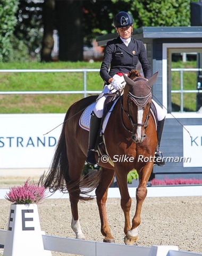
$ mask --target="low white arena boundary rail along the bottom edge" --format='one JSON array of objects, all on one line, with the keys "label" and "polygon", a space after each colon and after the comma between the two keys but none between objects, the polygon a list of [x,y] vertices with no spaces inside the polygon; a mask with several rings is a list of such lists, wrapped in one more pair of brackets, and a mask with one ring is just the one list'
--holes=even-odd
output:
[{"label": "low white arena boundary rail along the bottom edge", "polygon": [[[0,230],[0,244],[5,244],[5,230]],[[85,256],[199,256],[200,253],[179,251],[178,246],[159,245],[152,247],[108,244],[73,238],[42,235],[44,249],[54,252]],[[20,255],[19,255],[20,256]],[[44,256],[44,255],[40,255]]]}]

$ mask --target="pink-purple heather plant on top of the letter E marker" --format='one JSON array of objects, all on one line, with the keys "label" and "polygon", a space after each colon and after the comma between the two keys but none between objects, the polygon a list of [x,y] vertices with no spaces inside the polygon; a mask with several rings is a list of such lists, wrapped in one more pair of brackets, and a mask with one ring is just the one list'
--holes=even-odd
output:
[{"label": "pink-purple heather plant on top of the letter E marker", "polygon": [[39,184],[29,183],[29,179],[24,185],[10,188],[5,198],[14,204],[35,204],[45,198],[45,188]]}]

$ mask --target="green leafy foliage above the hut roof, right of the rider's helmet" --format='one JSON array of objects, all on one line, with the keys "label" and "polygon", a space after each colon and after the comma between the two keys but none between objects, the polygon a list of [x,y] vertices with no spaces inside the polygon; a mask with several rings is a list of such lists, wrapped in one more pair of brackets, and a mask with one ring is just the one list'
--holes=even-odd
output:
[{"label": "green leafy foliage above the hut roof, right of the rider's helmet", "polygon": [[[113,0],[114,4],[127,3],[134,19],[134,28],[190,26],[190,3],[197,0]],[[122,9],[124,10],[124,9]]]}]

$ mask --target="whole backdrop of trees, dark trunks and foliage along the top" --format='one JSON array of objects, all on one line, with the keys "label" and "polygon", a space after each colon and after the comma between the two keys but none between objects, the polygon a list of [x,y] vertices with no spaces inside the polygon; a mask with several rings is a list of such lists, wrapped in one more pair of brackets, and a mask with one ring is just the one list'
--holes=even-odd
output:
[{"label": "whole backdrop of trees, dark trunks and foliage along the top", "polygon": [[[134,28],[190,26],[190,3],[197,1],[1,0],[0,61],[9,60],[11,45],[16,45],[18,42],[21,42],[19,45],[22,49],[26,49],[23,58],[27,49],[30,55],[38,54],[42,48],[41,59],[50,61],[53,29],[58,30],[59,36],[62,38],[61,41],[63,41],[62,45],[59,42],[61,60],[81,60],[83,43],[90,46],[92,39],[96,36],[115,33],[113,18],[116,13],[126,11],[132,14]],[[49,12],[49,18],[46,17],[46,22],[43,19],[45,17],[43,4],[45,2],[51,6],[53,13],[50,15]],[[11,37],[13,31],[14,37]],[[11,59],[15,59],[14,57],[17,55],[13,50],[13,58]]]}]

